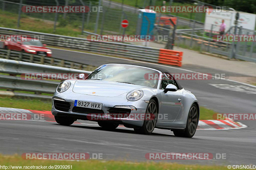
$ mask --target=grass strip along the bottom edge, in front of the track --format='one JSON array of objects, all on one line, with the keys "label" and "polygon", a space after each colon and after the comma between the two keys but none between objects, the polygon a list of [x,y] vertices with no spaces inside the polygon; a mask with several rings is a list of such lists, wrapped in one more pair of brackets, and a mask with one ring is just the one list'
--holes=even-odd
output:
[{"label": "grass strip along the bottom edge, in front of the track", "polygon": [[0,155],[0,165],[4,166],[22,166],[21,168],[16,167],[13,169],[25,169],[24,166],[55,166],[55,165],[69,165],[72,166],[72,170],[97,170],[97,169],[111,169],[111,170],[162,170],[162,169],[205,169],[205,170],[215,170],[215,169],[227,169],[226,166],[206,166],[206,165],[181,165],[177,163],[167,163],[167,162],[126,162],[126,161],[100,161],[100,160],[86,160],[86,161],[56,161],[56,160],[24,160],[21,156],[4,156]]}]

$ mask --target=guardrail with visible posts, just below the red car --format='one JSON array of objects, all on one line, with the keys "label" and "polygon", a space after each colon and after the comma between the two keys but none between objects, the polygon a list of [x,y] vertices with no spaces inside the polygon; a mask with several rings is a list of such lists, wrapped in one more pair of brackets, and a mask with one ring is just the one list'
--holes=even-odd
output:
[{"label": "guardrail with visible posts, just below the red car", "polygon": [[56,59],[52,57],[46,57],[44,55],[34,55],[34,54],[28,54],[25,52],[6,50],[2,48],[0,48],[0,58],[16,60],[16,61],[24,61],[29,63],[60,66],[60,67],[79,69],[79,70],[90,70],[92,67],[87,64],[81,64],[81,63]]}]

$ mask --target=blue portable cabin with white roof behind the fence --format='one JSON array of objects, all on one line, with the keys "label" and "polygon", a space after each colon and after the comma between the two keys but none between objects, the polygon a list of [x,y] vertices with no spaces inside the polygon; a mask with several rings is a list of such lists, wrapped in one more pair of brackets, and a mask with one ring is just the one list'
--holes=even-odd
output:
[{"label": "blue portable cabin with white roof behind the fence", "polygon": [[[152,35],[153,29],[156,21],[156,12],[152,12],[152,10],[145,10],[140,9],[139,10],[139,19],[137,23],[137,34],[138,35]],[[149,30],[148,30],[148,20],[150,21]],[[148,34],[147,34],[148,32]]]}]

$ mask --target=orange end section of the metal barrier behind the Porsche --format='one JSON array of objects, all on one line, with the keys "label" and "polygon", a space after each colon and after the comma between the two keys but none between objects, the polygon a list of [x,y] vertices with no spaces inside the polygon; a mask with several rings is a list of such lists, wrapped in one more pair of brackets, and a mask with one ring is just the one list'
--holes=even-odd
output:
[{"label": "orange end section of the metal barrier behind the Porsche", "polygon": [[183,52],[170,49],[159,49],[158,63],[181,67]]}]

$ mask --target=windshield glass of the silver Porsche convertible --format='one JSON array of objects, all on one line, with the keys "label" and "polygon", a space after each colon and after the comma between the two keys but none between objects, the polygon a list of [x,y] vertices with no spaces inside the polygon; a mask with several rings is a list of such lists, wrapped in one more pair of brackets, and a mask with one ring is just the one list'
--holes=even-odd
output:
[{"label": "windshield glass of the silver Porsche convertible", "polygon": [[145,79],[148,73],[159,74],[158,71],[139,66],[107,64],[94,70],[87,79],[122,82],[157,88],[158,80]]}]

